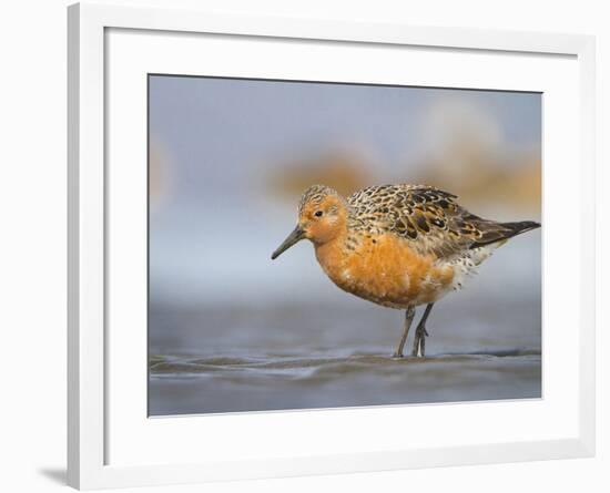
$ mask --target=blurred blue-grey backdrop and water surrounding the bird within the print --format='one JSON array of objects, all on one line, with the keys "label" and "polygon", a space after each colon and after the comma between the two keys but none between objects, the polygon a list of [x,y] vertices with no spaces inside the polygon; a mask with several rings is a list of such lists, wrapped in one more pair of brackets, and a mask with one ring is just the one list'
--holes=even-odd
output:
[{"label": "blurred blue-grey backdrop and water surrounding the bird within the print", "polygon": [[311,244],[270,259],[315,183],[540,220],[540,94],[153,75],[149,109],[150,414],[541,397],[540,230],[435,307],[421,361]]}]

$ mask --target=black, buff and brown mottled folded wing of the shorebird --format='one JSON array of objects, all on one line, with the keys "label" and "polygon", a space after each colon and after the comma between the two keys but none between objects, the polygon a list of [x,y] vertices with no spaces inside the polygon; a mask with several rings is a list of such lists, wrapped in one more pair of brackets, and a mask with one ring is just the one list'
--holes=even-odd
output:
[{"label": "black, buff and brown mottled folded wing of the shorebird", "polygon": [[508,224],[475,216],[456,199],[430,186],[384,185],[356,192],[348,203],[357,227],[393,233],[425,255],[449,257],[514,236]]}]

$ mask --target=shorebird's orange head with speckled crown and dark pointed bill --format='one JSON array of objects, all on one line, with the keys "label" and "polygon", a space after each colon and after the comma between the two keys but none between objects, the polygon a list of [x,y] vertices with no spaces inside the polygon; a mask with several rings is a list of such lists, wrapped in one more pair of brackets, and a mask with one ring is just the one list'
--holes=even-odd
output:
[{"label": "shorebird's orange head with speckled crown and dark pointed bill", "polygon": [[336,191],[313,185],[305,191],[298,204],[298,222],[294,230],[271,256],[277,258],[302,239],[324,245],[335,239],[347,225],[347,203]]}]

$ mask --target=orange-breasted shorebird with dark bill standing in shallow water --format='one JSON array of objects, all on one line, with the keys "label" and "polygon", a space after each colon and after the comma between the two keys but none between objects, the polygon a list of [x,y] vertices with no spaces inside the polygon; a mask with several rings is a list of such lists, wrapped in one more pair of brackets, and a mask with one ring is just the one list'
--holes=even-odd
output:
[{"label": "orange-breasted shorebird with dark bill standing in shallow water", "polygon": [[467,277],[509,238],[540,227],[533,220],[499,223],[478,217],[457,195],[426,185],[383,185],[345,198],[324,185],[305,191],[298,223],[272,259],[302,239],[340,289],[384,307],[404,309],[395,358],[403,358],[415,309],[411,356],[426,352],[426,322],[434,305],[461,289]]}]

